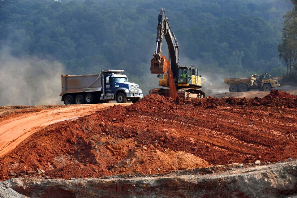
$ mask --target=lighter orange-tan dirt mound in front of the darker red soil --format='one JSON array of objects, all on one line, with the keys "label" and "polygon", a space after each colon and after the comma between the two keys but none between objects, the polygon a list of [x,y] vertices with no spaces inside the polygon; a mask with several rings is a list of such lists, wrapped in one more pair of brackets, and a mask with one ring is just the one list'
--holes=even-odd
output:
[{"label": "lighter orange-tan dirt mound in front of the darker red soil", "polygon": [[184,170],[210,166],[200,157],[184,151],[155,149],[152,144],[133,149],[127,157],[114,166],[114,174],[165,173],[172,170]]}]

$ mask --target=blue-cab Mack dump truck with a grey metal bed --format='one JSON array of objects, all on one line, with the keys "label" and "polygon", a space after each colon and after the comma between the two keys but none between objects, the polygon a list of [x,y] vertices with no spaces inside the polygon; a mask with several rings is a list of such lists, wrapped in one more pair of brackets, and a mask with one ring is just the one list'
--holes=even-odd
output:
[{"label": "blue-cab Mack dump truck with a grey metal bed", "polygon": [[62,97],[65,105],[135,102],[143,97],[138,84],[128,82],[124,70],[102,70],[100,74],[61,75]]}]

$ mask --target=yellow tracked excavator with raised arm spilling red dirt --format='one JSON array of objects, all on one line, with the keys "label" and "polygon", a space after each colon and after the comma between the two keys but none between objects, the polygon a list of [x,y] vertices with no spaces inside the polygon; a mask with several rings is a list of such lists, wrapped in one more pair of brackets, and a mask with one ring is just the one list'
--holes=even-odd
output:
[{"label": "yellow tracked excavator with raised arm spilling red dirt", "polygon": [[[168,46],[168,59],[161,55],[163,36]],[[171,68],[170,63],[171,62]],[[170,72],[170,69],[172,72]],[[151,59],[152,74],[158,74],[159,86],[172,88],[170,86],[170,75],[173,77],[174,87],[177,90],[177,96],[180,98],[205,98],[205,93],[199,88],[201,86],[201,75],[198,75],[198,67],[179,65],[179,45],[172,29],[169,26],[169,20],[165,15],[165,9],[159,12],[157,24],[156,50]],[[172,74],[171,74],[172,73]],[[171,78],[172,78],[171,77]],[[159,94],[169,96],[170,89],[156,88],[149,91],[149,94]]]}]

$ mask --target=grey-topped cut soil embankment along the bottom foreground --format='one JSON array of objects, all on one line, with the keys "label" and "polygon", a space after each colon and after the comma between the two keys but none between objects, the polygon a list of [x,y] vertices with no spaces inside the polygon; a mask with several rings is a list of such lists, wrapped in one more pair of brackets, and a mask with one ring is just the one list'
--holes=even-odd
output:
[{"label": "grey-topped cut soil embankment along the bottom foreground", "polygon": [[[163,175],[120,175],[107,179],[11,179],[0,182],[3,198],[23,197],[257,197],[295,198],[297,164],[231,164]],[[18,194],[17,192],[21,193]]]}]

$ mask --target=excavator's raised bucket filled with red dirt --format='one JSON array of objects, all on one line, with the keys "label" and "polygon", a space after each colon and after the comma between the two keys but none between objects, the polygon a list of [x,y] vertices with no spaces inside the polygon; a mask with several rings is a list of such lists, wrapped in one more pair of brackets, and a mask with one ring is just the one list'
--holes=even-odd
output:
[{"label": "excavator's raised bucket filled with red dirt", "polygon": [[154,54],[154,58],[151,59],[152,74],[165,74],[169,67],[170,63],[165,56]]}]

